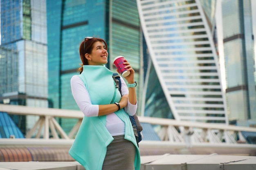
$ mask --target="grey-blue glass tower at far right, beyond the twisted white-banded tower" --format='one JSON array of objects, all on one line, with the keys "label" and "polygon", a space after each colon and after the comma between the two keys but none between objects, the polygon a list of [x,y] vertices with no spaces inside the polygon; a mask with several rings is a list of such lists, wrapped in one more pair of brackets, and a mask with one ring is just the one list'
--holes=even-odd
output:
[{"label": "grey-blue glass tower at far right, beyond the twisted white-banded tower", "polygon": [[222,0],[222,23],[229,120],[256,120],[251,0]]}]

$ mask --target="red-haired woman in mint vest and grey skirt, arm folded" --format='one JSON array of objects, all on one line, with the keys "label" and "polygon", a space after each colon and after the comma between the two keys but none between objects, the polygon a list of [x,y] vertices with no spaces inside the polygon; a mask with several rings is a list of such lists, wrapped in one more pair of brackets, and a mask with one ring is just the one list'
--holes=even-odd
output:
[{"label": "red-haired woman in mint vest and grey skirt, arm folded", "polygon": [[[71,89],[85,116],[69,153],[86,170],[139,170],[139,148],[128,116],[137,109],[135,87],[128,88],[121,77],[120,94],[113,72],[104,66],[107,50],[106,42],[95,37],[85,37],[80,45],[80,75],[71,78]],[[130,71],[127,82],[135,83],[130,63],[124,64]]]}]

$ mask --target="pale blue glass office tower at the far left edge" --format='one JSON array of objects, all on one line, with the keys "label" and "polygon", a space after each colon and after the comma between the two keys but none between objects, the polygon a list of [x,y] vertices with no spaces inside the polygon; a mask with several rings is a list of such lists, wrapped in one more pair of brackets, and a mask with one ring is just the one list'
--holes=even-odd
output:
[{"label": "pale blue glass office tower at the far left edge", "polygon": [[45,0],[1,0],[0,50],[0,102],[48,107]]}]

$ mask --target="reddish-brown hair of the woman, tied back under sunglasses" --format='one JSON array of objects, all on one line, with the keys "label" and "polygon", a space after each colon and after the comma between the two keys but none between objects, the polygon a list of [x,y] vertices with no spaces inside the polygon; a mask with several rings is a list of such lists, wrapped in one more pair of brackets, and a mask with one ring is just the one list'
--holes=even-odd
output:
[{"label": "reddish-brown hair of the woman, tied back under sunglasses", "polygon": [[[106,43],[106,41],[104,41],[101,38],[95,38],[93,37],[92,39],[86,39],[86,42],[83,40],[83,42],[81,42],[80,47],[79,47],[79,52],[80,52],[80,58],[82,61],[81,67],[78,69],[78,71],[80,72],[80,74],[83,72],[83,65],[88,65],[88,59],[85,58],[85,54],[91,54],[92,53],[92,47],[93,44],[97,41],[102,42],[105,45],[106,50],[108,50],[108,44]],[[83,49],[83,44],[85,43],[85,49]]]}]

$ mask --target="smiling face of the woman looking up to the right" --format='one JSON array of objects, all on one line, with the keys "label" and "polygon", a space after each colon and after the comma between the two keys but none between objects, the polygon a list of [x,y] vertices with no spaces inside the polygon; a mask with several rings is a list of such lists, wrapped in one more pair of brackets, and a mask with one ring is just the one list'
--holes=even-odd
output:
[{"label": "smiling face of the woman looking up to the right", "polygon": [[108,51],[105,49],[105,45],[100,41],[96,41],[89,57],[89,65],[104,65],[108,63]]}]

